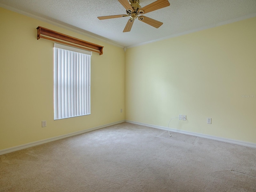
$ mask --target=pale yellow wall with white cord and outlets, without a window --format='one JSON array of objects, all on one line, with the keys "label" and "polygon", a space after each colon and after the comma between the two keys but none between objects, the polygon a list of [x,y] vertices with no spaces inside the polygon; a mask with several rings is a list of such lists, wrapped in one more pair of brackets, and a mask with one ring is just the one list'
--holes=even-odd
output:
[{"label": "pale yellow wall with white cord and outlets, without a window", "polygon": [[129,48],[125,60],[126,120],[167,127],[185,114],[170,127],[256,143],[256,18]]}]

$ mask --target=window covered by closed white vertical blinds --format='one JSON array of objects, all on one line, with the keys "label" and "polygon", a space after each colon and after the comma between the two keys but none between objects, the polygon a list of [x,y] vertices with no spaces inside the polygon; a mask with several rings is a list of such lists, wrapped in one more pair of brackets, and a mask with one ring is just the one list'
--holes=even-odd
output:
[{"label": "window covered by closed white vertical blinds", "polygon": [[90,114],[91,55],[54,44],[54,120]]}]

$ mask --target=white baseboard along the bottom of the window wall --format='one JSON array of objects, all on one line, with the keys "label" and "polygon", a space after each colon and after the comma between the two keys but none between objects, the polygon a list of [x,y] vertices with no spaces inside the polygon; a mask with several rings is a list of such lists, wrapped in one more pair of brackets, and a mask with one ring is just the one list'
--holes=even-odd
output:
[{"label": "white baseboard along the bottom of the window wall", "polygon": [[83,134],[83,133],[94,131],[94,130],[97,130],[97,129],[101,129],[101,128],[104,128],[104,127],[116,125],[116,124],[119,124],[119,123],[122,123],[122,122],[125,122],[125,121],[123,120],[123,121],[119,121],[119,122],[114,122],[114,123],[111,123],[111,124],[106,124],[106,125],[94,127],[94,128],[87,129],[87,130],[73,132],[73,133],[69,133],[69,134],[65,134],[65,135],[60,135],[60,136],[56,136],[56,137],[52,137],[52,138],[48,138],[48,139],[43,139],[43,140],[40,140],[40,141],[35,141],[35,142],[31,142],[31,143],[27,143],[27,144],[15,146],[15,147],[3,149],[3,150],[0,150],[0,155],[10,153],[10,152],[14,152],[14,151],[18,151],[18,150],[22,150],[22,149],[26,149],[26,148],[37,146],[37,145],[41,145],[41,144],[44,144],[44,143],[64,139],[64,138],[67,138],[67,137]]}]

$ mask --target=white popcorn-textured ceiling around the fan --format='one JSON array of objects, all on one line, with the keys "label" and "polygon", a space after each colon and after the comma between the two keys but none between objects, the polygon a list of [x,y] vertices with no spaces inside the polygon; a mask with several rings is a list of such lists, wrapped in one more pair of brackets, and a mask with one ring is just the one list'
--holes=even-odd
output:
[{"label": "white popcorn-textured ceiling around the fan", "polygon": [[[140,0],[144,7],[155,0]],[[126,14],[118,0],[0,0],[0,6],[33,14],[123,47],[256,16],[256,0],[169,0],[170,6],[145,14],[164,24],[156,29],[135,20],[123,33],[128,17],[98,20],[97,16]]]}]

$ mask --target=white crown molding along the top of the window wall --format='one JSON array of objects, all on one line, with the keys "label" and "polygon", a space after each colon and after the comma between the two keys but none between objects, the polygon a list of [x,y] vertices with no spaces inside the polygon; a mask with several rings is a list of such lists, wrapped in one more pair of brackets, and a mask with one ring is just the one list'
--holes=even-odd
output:
[{"label": "white crown molding along the top of the window wall", "polygon": [[69,27],[69,26],[66,26],[64,24],[60,24],[58,22],[54,22],[54,21],[51,21],[51,20],[48,20],[46,18],[43,18],[43,17],[40,17],[40,16],[36,16],[34,14],[31,14],[31,13],[28,13],[28,12],[25,12],[25,11],[22,11],[22,10],[19,10],[19,9],[16,9],[12,6],[8,6],[8,5],[5,5],[3,3],[0,3],[0,7],[4,8],[4,9],[7,9],[7,10],[10,10],[10,11],[13,11],[13,12],[16,12],[16,13],[19,13],[19,14],[22,14],[22,15],[25,15],[25,16],[28,16],[28,17],[31,17],[31,18],[34,18],[34,19],[37,19],[37,20],[40,20],[40,21],[43,21],[43,22],[46,22],[46,23],[49,23],[49,24],[52,24],[54,26],[58,26],[58,27],[61,27],[61,28],[64,28],[64,29],[67,29],[67,30],[70,30],[72,32],[75,32],[75,33],[78,33],[78,34],[81,34],[81,35],[84,35],[84,36],[88,36],[90,38],[94,38],[96,40],[100,40],[100,41],[103,41],[103,42],[106,42],[108,44],[111,44],[111,45],[114,45],[116,47],[120,47],[120,48],[124,48],[124,46],[121,46],[121,45],[118,45],[118,44],[115,44],[113,42],[110,42],[102,37],[99,37],[97,35],[92,35],[92,34],[89,34],[89,33],[86,33],[82,30],[77,30],[77,29],[74,29],[72,27]]}]

